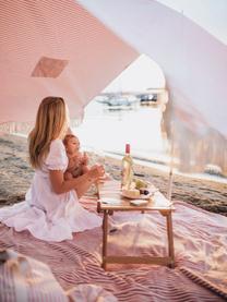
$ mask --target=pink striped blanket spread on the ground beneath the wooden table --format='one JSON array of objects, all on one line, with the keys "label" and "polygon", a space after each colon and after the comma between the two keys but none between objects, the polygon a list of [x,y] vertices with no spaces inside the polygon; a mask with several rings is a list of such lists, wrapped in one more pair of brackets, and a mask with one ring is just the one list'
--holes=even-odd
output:
[{"label": "pink striped blanket spread on the ground beneath the wooden table", "polygon": [[[91,210],[96,204],[82,203]],[[64,290],[96,285],[119,301],[226,301],[227,217],[176,202],[172,215],[176,268],[109,265],[101,262],[101,229],[75,233],[73,240],[45,242],[27,231],[0,225],[0,247],[10,247],[49,265]],[[108,253],[158,256],[166,253],[165,219],[158,213],[115,213]]]}]

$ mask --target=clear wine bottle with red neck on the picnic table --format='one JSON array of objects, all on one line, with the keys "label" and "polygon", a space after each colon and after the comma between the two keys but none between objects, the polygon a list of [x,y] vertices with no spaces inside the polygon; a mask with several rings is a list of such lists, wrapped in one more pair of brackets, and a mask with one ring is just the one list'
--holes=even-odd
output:
[{"label": "clear wine bottle with red neck on the picnic table", "polygon": [[133,160],[130,144],[126,144],[126,154],[121,162],[121,188],[129,190],[133,180]]}]

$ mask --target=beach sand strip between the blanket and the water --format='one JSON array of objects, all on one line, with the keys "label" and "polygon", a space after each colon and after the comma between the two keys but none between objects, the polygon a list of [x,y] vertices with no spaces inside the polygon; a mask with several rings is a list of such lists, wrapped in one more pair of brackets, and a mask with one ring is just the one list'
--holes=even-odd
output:
[{"label": "beach sand strip between the blanket and the water", "polygon": [[[27,159],[26,138],[1,135],[0,150],[0,206],[3,206],[24,200],[34,170]],[[115,179],[120,179],[120,165],[119,159],[105,158],[106,171]],[[142,165],[135,165],[134,171],[143,174],[143,179],[151,181],[162,193],[166,194],[168,185],[168,174],[166,172]],[[172,201],[175,200],[227,216],[226,183],[175,176]]]}]

